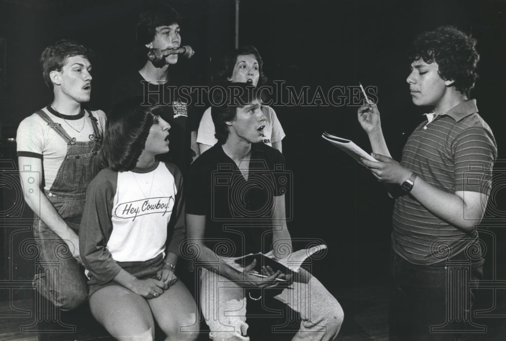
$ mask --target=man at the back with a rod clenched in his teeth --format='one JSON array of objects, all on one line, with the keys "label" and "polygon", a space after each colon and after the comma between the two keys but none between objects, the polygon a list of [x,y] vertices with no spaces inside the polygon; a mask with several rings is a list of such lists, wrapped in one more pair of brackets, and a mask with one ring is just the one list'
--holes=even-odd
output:
[{"label": "man at the back with a rod clenched in his teeth", "polygon": [[140,70],[129,72],[114,83],[112,105],[133,96],[144,96],[146,105],[164,105],[166,112],[163,119],[172,127],[171,151],[161,159],[175,163],[185,174],[192,158],[198,155],[198,121],[193,122],[189,96],[182,98],[178,94],[179,86],[186,80],[175,79],[171,71],[178,63],[179,55],[168,55],[156,62],[147,59],[150,49],[165,50],[181,46],[179,20],[179,14],[163,3],[151,2],[142,9],[137,20],[136,35],[146,62]]}]

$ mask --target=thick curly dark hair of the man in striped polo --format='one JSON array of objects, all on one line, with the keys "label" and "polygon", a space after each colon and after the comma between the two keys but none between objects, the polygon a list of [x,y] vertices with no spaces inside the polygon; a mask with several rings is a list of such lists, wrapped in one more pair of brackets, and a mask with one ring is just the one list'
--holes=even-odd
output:
[{"label": "thick curly dark hair of the man in striped polo", "polygon": [[408,56],[411,62],[423,59],[427,64],[438,63],[439,76],[453,80],[452,86],[461,93],[467,94],[478,77],[476,39],[453,26],[421,33],[411,44]]}]

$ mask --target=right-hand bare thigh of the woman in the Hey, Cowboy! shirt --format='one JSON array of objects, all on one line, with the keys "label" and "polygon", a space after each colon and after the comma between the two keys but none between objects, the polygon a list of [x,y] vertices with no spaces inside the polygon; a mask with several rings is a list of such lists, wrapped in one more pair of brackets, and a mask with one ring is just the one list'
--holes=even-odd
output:
[{"label": "right-hand bare thigh of the woman in the Hey, Cowboy! shirt", "polygon": [[194,340],[198,337],[197,307],[181,281],[147,302],[167,340]]}]

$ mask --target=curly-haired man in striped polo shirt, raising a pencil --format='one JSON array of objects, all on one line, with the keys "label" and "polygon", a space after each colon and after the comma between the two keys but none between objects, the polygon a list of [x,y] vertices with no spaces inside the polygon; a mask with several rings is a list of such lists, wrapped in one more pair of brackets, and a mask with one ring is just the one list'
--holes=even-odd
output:
[{"label": "curly-haired man in striped polo shirt, raising a pencil", "polygon": [[[391,340],[453,340],[454,332],[465,331],[457,322],[470,320],[469,282],[482,278],[476,225],[491,190],[497,145],[476,101],[468,99],[477,77],[475,46],[475,39],[448,26],[413,42],[406,81],[413,103],[432,112],[408,138],[400,163],[390,157],[376,106],[358,110],[379,161],[363,162],[395,197]],[[469,267],[469,277],[447,285],[455,275],[448,268],[457,263]],[[452,304],[457,299],[461,305]]]}]

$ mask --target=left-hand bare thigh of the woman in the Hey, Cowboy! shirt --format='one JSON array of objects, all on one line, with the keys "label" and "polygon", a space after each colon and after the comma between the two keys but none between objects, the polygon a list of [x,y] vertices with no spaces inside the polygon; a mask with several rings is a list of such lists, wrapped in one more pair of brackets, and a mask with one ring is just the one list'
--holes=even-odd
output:
[{"label": "left-hand bare thigh of the woman in the Hey, Cowboy! shirt", "polygon": [[153,315],[146,301],[123,286],[111,285],[90,297],[90,309],[97,321],[120,341],[153,340]]}]

